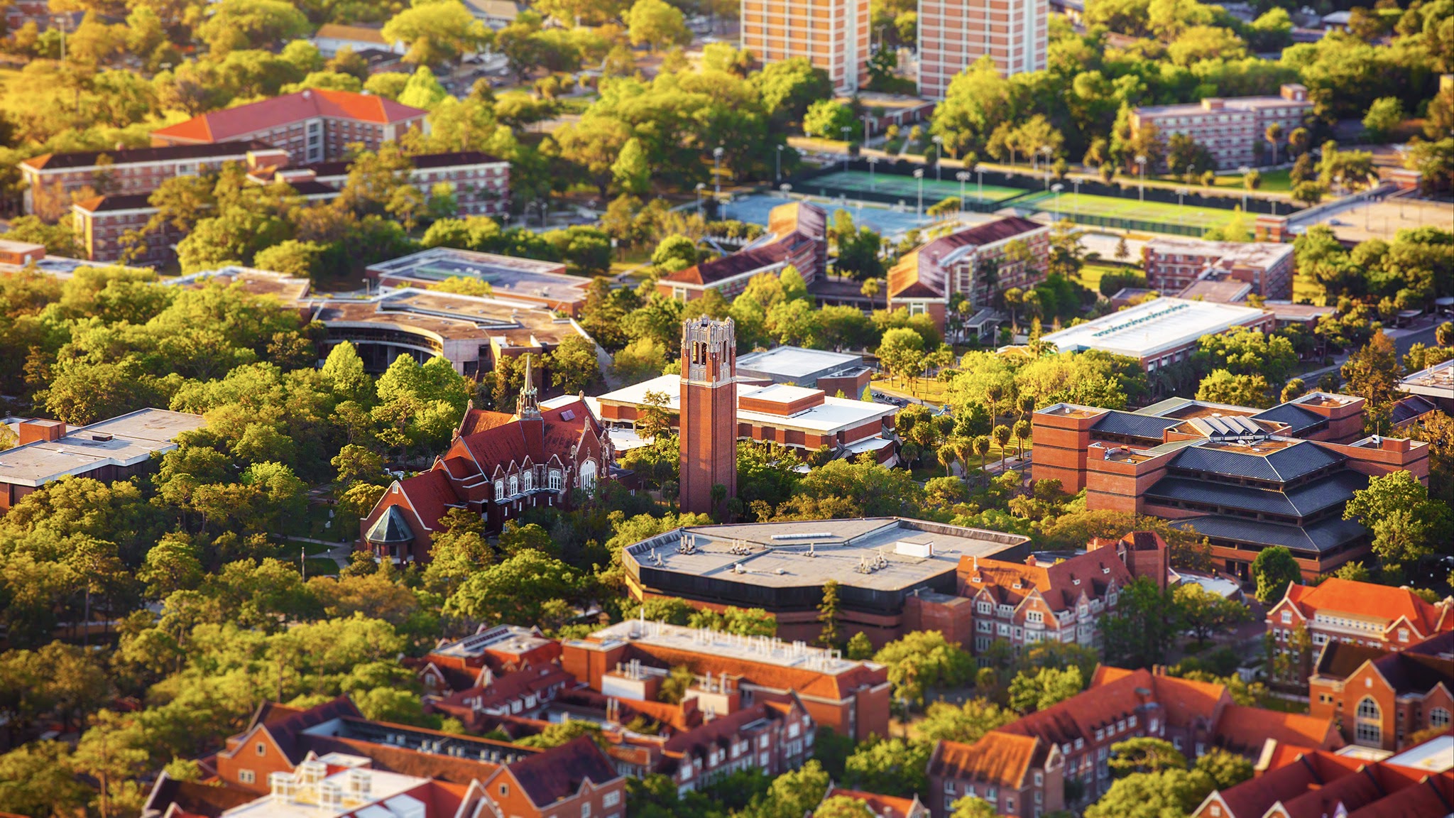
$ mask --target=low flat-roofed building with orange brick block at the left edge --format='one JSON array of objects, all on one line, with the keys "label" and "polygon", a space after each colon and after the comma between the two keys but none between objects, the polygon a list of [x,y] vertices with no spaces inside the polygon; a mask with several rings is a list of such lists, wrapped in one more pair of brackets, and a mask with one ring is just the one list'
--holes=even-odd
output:
[{"label": "low flat-roofed building with orange brick block at the left edge", "polygon": [[166,409],[138,409],[71,429],[61,421],[20,421],[20,444],[0,451],[0,511],[65,476],[125,480],[150,466],[153,454],[176,448],[177,435],[204,425],[201,415]]}]

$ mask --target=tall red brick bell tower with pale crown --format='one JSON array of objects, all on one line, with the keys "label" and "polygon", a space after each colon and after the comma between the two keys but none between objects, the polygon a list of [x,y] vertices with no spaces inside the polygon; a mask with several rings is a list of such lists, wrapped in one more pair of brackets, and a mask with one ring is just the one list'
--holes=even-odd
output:
[{"label": "tall red brick bell tower with pale crown", "polygon": [[711,514],[712,486],[737,496],[737,338],[731,319],[682,325],[683,512]]}]

